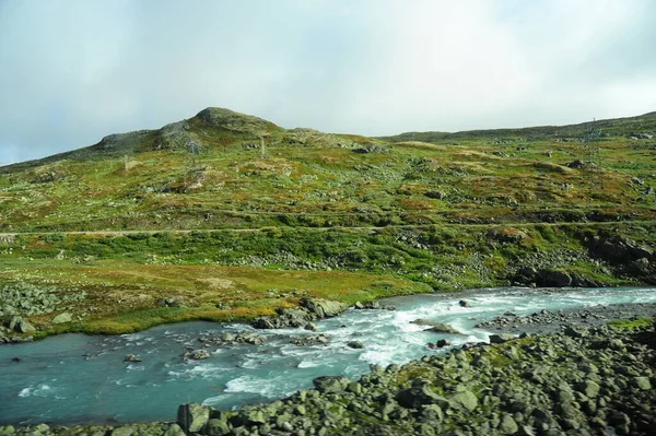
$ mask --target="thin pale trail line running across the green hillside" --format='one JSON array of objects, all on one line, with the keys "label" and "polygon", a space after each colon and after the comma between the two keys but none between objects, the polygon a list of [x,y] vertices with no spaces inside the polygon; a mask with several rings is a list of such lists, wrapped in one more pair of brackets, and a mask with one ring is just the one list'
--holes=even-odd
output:
[{"label": "thin pale trail line running across the green hillside", "polygon": [[47,235],[89,235],[89,236],[126,236],[137,234],[149,234],[154,235],[159,233],[171,233],[171,234],[190,234],[194,232],[199,233],[218,233],[218,232],[234,232],[234,233],[255,233],[272,231],[278,228],[283,229],[303,229],[303,231],[382,231],[385,228],[433,228],[433,227],[505,227],[505,226],[534,226],[534,225],[548,225],[548,226],[613,226],[618,224],[654,224],[653,220],[641,220],[641,221],[605,221],[605,222],[526,222],[526,223],[485,223],[485,224],[457,224],[457,223],[443,223],[443,224],[400,224],[400,225],[386,225],[386,226],[330,226],[330,227],[306,227],[306,226],[265,226],[254,228],[167,228],[167,229],[137,229],[137,231],[72,231],[72,232],[13,232],[13,233],[0,233],[0,238],[9,238],[15,236],[47,236]]}]

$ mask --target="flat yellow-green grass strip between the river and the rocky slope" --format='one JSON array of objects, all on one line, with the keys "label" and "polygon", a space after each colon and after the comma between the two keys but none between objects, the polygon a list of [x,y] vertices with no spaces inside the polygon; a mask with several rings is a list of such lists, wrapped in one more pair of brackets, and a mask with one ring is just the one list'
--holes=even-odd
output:
[{"label": "flat yellow-green grass strip between the river and the rocky slope", "polygon": [[[127,333],[160,323],[189,320],[247,321],[318,297],[353,304],[391,295],[432,292],[425,284],[388,275],[343,271],[276,271],[248,267],[149,266],[116,261],[94,266],[63,261],[5,264],[0,282],[21,280],[86,297],[46,315],[31,317],[38,335],[81,331]],[[179,307],[163,307],[174,298]],[[55,315],[73,322],[52,325]]]}]

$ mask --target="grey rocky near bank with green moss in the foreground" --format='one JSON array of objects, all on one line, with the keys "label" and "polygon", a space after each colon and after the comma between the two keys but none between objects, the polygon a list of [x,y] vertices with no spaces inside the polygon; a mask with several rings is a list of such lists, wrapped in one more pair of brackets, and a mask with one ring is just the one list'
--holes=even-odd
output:
[{"label": "grey rocky near bank with green moss in the foreground", "polygon": [[372,365],[371,374],[359,380],[319,377],[315,389],[241,411],[184,404],[176,423],[7,426],[0,427],[0,435],[652,434],[653,325],[619,329],[570,323],[562,332],[514,339],[499,334],[492,342],[426,355],[403,366]]}]

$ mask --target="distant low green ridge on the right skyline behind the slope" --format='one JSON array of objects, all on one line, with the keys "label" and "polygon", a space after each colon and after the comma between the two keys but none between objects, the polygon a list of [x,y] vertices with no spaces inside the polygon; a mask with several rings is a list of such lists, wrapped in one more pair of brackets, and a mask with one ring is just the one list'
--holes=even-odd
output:
[{"label": "distant low green ridge on the right skyline behind the slope", "polygon": [[581,138],[591,129],[601,129],[607,135],[624,135],[635,132],[656,132],[656,111],[639,117],[602,119],[569,126],[538,126],[526,128],[468,130],[461,132],[406,132],[391,137],[379,137],[388,142],[421,141],[435,142],[449,139],[477,138],[526,138],[528,140],[544,140],[555,138]]}]

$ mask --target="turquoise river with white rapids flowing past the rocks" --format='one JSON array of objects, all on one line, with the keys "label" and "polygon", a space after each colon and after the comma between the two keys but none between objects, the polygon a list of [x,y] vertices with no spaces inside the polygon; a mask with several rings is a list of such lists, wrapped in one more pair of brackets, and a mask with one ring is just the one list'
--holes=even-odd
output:
[{"label": "turquoise river with white rapids flowing past the rocks", "polygon": [[[461,308],[466,298],[471,308]],[[323,375],[358,377],[370,363],[402,364],[436,351],[426,342],[448,337],[422,331],[417,318],[448,322],[464,331],[454,346],[487,341],[478,322],[506,310],[528,315],[599,304],[656,303],[656,288],[599,288],[542,292],[480,290],[455,296],[390,298],[398,310],[353,310],[317,322],[330,335],[327,346],[296,346],[290,337],[315,334],[298,329],[258,331],[263,345],[213,346],[206,361],[183,362],[186,346],[200,349],[200,334],[250,330],[243,325],[188,322],[137,334],[66,334],[0,346],[0,424],[61,424],[173,421],[178,404],[204,402],[219,409],[270,401],[312,387]],[[386,302],[386,303],[387,303]],[[360,341],[362,350],[345,344]],[[442,351],[444,352],[444,351]],[[126,354],[143,362],[124,363]],[[13,358],[20,358],[14,362]]]}]

